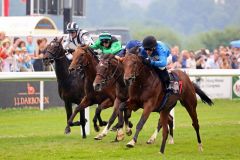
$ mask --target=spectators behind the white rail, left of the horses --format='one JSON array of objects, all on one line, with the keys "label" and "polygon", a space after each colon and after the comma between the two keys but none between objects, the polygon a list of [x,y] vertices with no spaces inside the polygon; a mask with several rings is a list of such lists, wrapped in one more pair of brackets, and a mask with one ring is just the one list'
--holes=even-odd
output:
[{"label": "spectators behind the white rail, left of the horses", "polygon": [[48,71],[52,68],[44,67],[42,58],[47,39],[40,38],[33,42],[31,35],[25,39],[9,38],[0,32],[0,71],[1,72],[31,72]]}]

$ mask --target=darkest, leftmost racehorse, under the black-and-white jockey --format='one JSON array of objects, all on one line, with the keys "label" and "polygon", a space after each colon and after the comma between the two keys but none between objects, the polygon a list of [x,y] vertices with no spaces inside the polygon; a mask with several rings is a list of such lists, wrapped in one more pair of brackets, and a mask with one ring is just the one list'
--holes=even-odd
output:
[{"label": "darkest, leftmost racehorse, under the black-and-white jockey", "polygon": [[[64,101],[64,106],[67,114],[67,121],[72,115],[72,103],[79,104],[81,99],[84,97],[83,83],[80,76],[75,76],[69,73],[68,67],[70,61],[67,59],[65,53],[66,51],[62,46],[63,38],[59,40],[54,38],[46,48],[46,54],[44,55],[44,63],[49,64],[55,62],[55,73],[58,82],[58,93],[60,98]],[[100,117],[101,110],[96,109],[96,117],[99,119],[99,123],[104,123]],[[83,138],[86,137],[85,132],[85,111],[80,112],[80,121],[74,122],[71,126],[82,125]],[[65,128],[65,134],[71,132],[70,127]]]}]

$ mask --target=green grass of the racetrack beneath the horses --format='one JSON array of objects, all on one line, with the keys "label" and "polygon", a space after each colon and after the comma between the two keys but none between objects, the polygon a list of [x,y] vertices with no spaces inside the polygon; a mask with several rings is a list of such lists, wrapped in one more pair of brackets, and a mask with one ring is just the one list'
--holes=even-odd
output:
[{"label": "green grass of the racetrack beneath the horses", "polygon": [[[72,128],[70,135],[64,135],[65,110],[52,108],[0,110],[0,159],[239,159],[240,157],[240,101],[215,100],[213,107],[199,102],[198,119],[204,151],[198,152],[195,131],[190,117],[183,107],[175,109],[176,128],[174,145],[166,145],[165,155],[159,154],[161,134],[153,145],[146,141],[154,132],[158,115],[152,113],[139,135],[135,148],[128,149],[126,143],[112,143],[115,137],[110,132],[102,141],[95,141],[91,123],[91,135],[80,136],[79,127]],[[93,117],[94,107],[91,109]],[[112,109],[103,111],[105,120]],[[134,129],[142,110],[133,113]]]}]

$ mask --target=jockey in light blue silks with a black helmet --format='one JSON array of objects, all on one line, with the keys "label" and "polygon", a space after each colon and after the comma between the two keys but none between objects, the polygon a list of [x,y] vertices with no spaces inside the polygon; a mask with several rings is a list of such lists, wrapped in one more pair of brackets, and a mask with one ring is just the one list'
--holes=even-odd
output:
[{"label": "jockey in light blue silks with a black helmet", "polygon": [[147,36],[143,40],[143,50],[141,51],[141,54],[144,58],[146,58],[144,63],[153,66],[164,84],[166,93],[159,108],[160,111],[163,109],[168,97],[172,93],[172,90],[169,88],[170,77],[166,68],[167,57],[170,55],[170,49],[163,42],[157,42],[154,36]]}]

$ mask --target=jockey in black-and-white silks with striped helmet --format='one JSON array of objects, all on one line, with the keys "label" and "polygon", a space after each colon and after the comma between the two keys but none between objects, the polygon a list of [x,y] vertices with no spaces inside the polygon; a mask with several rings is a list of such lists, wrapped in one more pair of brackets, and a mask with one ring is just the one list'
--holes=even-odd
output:
[{"label": "jockey in black-and-white silks with striped helmet", "polygon": [[[66,49],[68,53],[74,52],[78,45],[92,45],[94,43],[88,31],[79,29],[79,26],[76,22],[70,22],[67,24],[67,32],[68,36],[63,43],[63,48]],[[67,54],[67,57],[69,60],[71,60],[72,54]]]}]

